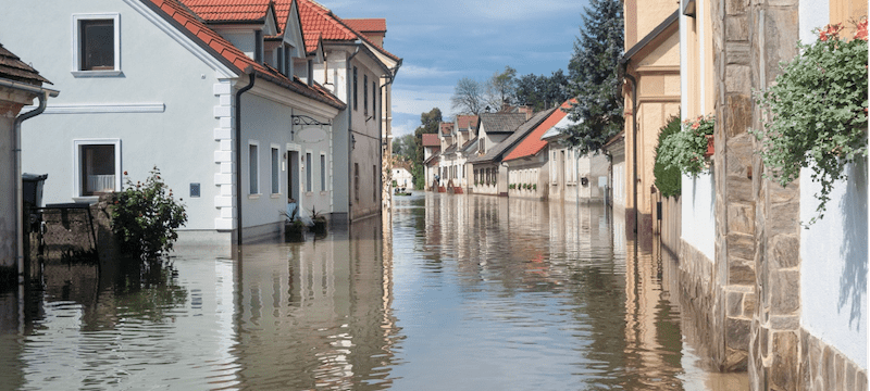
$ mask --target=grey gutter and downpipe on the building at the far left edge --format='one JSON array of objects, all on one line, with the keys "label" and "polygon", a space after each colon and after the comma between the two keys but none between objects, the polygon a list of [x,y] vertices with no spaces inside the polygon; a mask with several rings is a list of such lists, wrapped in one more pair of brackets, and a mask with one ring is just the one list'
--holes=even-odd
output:
[{"label": "grey gutter and downpipe on the building at the far left edge", "polygon": [[18,269],[18,283],[24,282],[24,222],[22,220],[24,215],[24,204],[23,204],[23,185],[21,181],[21,123],[30,119],[39,114],[42,114],[46,111],[46,105],[48,104],[49,97],[57,97],[60,92],[55,90],[50,90],[41,87],[37,87],[29,84],[11,81],[11,80],[0,80],[0,86],[15,89],[18,91],[24,91],[28,93],[36,94],[39,99],[39,106],[35,110],[26,112],[24,114],[18,115],[15,117],[13,122],[13,139],[15,144],[13,146],[13,151],[15,152],[15,157],[13,161],[13,175],[15,175],[15,263]]}]

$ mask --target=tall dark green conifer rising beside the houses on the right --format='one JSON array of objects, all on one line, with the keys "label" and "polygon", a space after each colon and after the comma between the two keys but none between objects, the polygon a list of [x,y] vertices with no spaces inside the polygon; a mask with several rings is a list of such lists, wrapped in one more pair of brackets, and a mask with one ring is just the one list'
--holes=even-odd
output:
[{"label": "tall dark green conifer rising beside the houses on the right", "polygon": [[599,152],[607,140],[622,129],[623,15],[618,0],[589,0],[581,15],[583,25],[568,64],[571,104],[568,142],[581,154]]}]

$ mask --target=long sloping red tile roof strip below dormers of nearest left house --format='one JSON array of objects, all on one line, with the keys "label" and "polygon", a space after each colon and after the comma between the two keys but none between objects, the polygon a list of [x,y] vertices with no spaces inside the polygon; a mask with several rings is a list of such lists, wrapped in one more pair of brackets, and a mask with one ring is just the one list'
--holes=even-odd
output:
[{"label": "long sloping red tile roof strip below dormers of nearest left house", "polygon": [[326,103],[333,108],[339,110],[346,108],[344,102],[325,90],[322,86],[318,84],[308,86],[297,77],[289,78],[270,66],[254,62],[228,40],[206,26],[190,9],[184,7],[178,0],[141,1],[147,5],[152,5],[154,12],[163,16],[166,21],[170,21],[170,23],[176,24],[182,33],[187,31],[188,37],[206,48],[206,50],[212,51],[217,60],[221,60],[237,74],[243,74],[245,70],[250,66],[260,78],[275,83],[294,92]]}]

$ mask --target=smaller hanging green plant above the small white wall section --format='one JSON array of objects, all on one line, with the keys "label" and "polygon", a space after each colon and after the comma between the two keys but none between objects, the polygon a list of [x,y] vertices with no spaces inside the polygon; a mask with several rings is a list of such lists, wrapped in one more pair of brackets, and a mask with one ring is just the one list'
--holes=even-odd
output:
[{"label": "smaller hanging green plant above the small white wall section", "polygon": [[[663,169],[679,169],[682,174],[697,177],[708,172],[709,164],[704,153],[707,152],[707,136],[713,134],[716,118],[712,114],[686,119],[682,131],[674,131],[661,140],[656,149],[656,163]],[[661,189],[659,189],[661,190]]]}]

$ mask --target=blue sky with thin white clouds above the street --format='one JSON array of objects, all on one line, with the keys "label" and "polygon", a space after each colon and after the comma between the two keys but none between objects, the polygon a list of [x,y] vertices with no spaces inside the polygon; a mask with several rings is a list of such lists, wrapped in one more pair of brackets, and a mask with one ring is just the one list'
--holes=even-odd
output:
[{"label": "blue sky with thin white clouds above the street", "polygon": [[402,59],[393,85],[393,135],[411,134],[433,108],[455,115],[459,79],[568,73],[586,0],[318,0],[338,17],[383,17],[384,49]]}]

